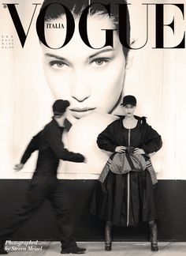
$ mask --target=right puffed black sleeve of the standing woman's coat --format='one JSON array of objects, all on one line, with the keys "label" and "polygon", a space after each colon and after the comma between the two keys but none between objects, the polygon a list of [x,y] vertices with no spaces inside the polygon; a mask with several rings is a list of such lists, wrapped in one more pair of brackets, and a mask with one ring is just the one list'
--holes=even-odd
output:
[{"label": "right puffed black sleeve of the standing woman's coat", "polygon": [[157,152],[162,148],[162,137],[151,126],[147,125],[147,132],[141,148],[147,154]]}]

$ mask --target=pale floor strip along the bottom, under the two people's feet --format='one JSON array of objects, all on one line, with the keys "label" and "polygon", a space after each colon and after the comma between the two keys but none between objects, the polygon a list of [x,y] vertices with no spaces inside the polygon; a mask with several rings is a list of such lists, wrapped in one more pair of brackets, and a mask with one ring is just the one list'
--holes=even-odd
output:
[{"label": "pale floor strip along the bottom, under the two people's feet", "polygon": [[[28,243],[28,244],[25,244]],[[186,243],[184,242],[162,242],[158,243],[158,252],[150,250],[147,242],[113,242],[113,250],[105,251],[102,242],[80,242],[79,247],[87,248],[86,255],[90,256],[185,256]],[[55,256],[60,255],[59,242],[42,241],[6,241],[6,250],[13,256]]]}]

